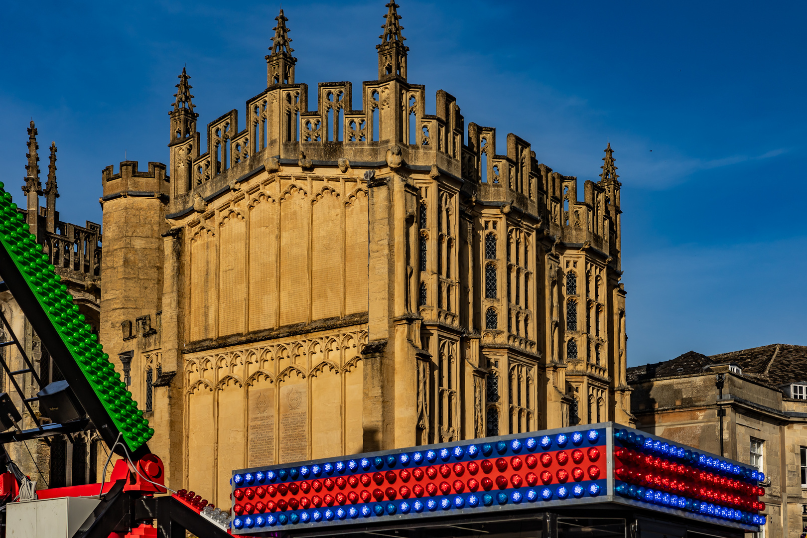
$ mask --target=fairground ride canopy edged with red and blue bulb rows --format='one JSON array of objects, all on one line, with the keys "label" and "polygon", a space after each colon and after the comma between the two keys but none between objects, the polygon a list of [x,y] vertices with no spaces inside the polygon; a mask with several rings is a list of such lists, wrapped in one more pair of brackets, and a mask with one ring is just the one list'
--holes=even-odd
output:
[{"label": "fairground ride canopy edged with red and blue bulb rows", "polygon": [[763,479],[737,461],[599,423],[236,470],[232,533],[608,503],[757,532]]}]

